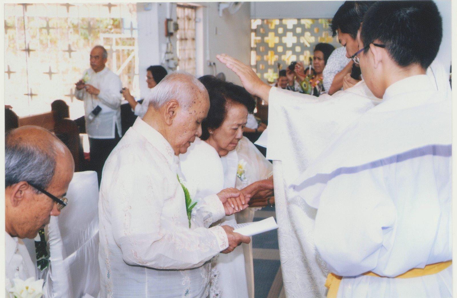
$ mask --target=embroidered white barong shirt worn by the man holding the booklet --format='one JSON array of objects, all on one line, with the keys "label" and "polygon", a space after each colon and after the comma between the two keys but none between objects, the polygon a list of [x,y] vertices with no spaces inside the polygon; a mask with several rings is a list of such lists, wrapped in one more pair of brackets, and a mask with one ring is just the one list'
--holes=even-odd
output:
[{"label": "embroidered white barong shirt worn by the man holding the booklet", "polygon": [[179,159],[142,119],[108,157],[101,179],[101,297],[200,298],[209,260],[228,247],[217,195],[199,200],[189,228]]}]

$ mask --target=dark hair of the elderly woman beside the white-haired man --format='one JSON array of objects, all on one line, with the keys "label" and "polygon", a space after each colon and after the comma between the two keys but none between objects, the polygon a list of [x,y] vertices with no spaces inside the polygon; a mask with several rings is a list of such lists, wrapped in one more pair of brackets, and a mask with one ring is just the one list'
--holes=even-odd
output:
[{"label": "dark hair of the elderly woman beside the white-haired man", "polygon": [[208,129],[217,129],[225,119],[228,108],[234,103],[240,103],[248,109],[248,113],[254,113],[255,100],[241,86],[234,83],[219,80],[215,76],[202,76],[199,78],[209,94],[208,116],[202,122],[203,141],[209,138]]}]

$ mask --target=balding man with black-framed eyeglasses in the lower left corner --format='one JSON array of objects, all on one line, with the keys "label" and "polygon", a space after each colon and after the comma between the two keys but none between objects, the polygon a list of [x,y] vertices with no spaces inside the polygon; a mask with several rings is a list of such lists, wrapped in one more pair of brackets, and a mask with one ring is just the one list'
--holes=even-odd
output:
[{"label": "balding man with black-framed eyeglasses in the lower left corner", "polygon": [[67,205],[73,178],[69,149],[48,130],[22,126],[5,136],[5,270],[13,279],[37,278],[23,238],[35,238]]}]

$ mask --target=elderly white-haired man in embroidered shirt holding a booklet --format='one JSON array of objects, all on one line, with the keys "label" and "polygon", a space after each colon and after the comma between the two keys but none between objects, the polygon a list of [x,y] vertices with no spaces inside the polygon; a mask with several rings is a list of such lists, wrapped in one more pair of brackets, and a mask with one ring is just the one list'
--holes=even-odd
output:
[{"label": "elderly white-haired man in embroidered shirt holding a booklet", "polygon": [[99,201],[101,297],[207,297],[208,261],[250,242],[227,225],[208,228],[247,207],[249,197],[239,191],[208,194],[186,207],[196,199],[181,186],[188,183],[178,155],[201,134],[208,108],[196,78],[170,74],[108,157]]}]

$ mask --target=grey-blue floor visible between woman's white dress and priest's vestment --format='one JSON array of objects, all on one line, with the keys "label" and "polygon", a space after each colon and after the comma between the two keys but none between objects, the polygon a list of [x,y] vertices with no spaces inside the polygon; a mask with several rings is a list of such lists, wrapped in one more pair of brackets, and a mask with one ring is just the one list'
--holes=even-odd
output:
[{"label": "grey-blue floor visible between woman's white dress and priest's vestment", "polygon": [[[274,207],[256,211],[254,221],[275,217]],[[279,261],[278,233],[273,230],[252,237],[255,298],[284,297]]]}]

